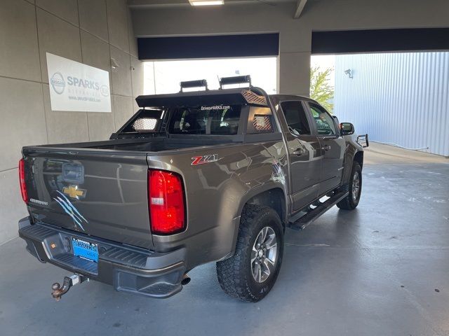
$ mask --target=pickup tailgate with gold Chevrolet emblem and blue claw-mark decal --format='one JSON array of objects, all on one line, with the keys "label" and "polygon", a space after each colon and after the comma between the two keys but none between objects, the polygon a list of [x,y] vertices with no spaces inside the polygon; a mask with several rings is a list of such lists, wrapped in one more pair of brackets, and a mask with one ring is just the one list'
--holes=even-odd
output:
[{"label": "pickup tailgate with gold Chevrolet emblem and blue claw-mark decal", "polygon": [[25,147],[35,221],[152,248],[145,153]]}]

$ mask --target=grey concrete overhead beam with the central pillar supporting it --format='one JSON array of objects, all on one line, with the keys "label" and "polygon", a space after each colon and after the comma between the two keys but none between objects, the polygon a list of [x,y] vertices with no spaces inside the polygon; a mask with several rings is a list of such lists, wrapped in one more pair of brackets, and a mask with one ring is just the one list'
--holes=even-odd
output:
[{"label": "grey concrete overhead beam with the central pillar supporting it", "polygon": [[293,19],[295,1],[213,8],[135,8],[136,36],[279,32],[279,92],[309,94],[312,30],[449,27],[447,0],[309,0]]}]

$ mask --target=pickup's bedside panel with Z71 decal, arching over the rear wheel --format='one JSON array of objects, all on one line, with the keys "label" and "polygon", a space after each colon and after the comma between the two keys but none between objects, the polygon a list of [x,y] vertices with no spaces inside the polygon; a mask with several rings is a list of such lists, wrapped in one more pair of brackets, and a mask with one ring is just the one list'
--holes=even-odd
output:
[{"label": "pickup's bedside panel with Z71 decal, arching over the rear wheel", "polygon": [[[217,162],[192,165],[193,157],[214,154]],[[241,210],[251,197],[270,188],[287,191],[282,141],[150,154],[147,160],[150,169],[177,172],[185,183],[187,229],[153,235],[153,243],[156,251],[187,247],[188,268],[234,253]]]}]

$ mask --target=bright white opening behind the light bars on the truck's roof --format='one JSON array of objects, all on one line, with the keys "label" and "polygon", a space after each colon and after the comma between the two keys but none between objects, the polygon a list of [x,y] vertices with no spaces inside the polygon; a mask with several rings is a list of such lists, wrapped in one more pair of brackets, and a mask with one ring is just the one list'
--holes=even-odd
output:
[{"label": "bright white opening behind the light bars on the truck's roof", "polygon": [[209,89],[213,90],[219,87],[218,78],[239,75],[250,75],[252,85],[274,94],[277,92],[276,68],[277,57],[145,62],[144,94],[179,92],[181,81],[196,79],[206,79]]}]

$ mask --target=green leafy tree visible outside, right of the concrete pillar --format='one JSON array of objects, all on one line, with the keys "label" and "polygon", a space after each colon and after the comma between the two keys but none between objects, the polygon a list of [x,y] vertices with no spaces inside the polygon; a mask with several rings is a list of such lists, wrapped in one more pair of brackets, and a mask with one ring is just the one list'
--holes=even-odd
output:
[{"label": "green leafy tree visible outside, right of the concrete pillar", "polygon": [[333,113],[334,88],[330,85],[330,73],[333,69],[328,68],[320,71],[318,66],[310,68],[310,97],[319,102],[329,113]]}]

